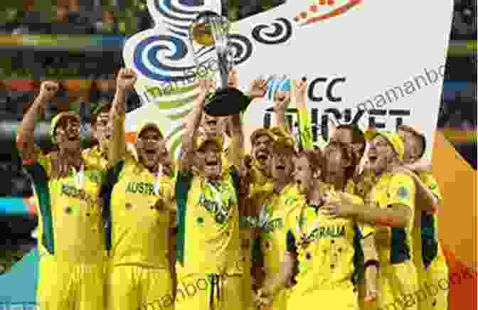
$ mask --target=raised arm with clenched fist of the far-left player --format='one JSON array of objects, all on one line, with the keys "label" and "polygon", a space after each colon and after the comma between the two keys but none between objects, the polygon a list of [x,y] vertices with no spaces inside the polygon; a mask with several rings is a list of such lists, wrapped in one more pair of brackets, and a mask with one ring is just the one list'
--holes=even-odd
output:
[{"label": "raised arm with clenched fist of the far-left player", "polygon": [[21,126],[16,134],[16,146],[24,163],[35,160],[34,132],[38,116],[41,115],[47,102],[55,97],[59,85],[57,82],[45,81],[41,83],[38,97],[31,105],[21,121]]}]

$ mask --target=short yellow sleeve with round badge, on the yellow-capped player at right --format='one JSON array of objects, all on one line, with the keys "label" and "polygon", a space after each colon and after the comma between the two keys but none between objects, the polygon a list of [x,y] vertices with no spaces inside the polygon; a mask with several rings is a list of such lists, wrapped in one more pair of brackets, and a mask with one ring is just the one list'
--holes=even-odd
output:
[{"label": "short yellow sleeve with round badge, on the yellow-capped player at right", "polygon": [[408,205],[415,209],[415,181],[405,173],[397,173],[392,176],[387,189],[387,205]]}]

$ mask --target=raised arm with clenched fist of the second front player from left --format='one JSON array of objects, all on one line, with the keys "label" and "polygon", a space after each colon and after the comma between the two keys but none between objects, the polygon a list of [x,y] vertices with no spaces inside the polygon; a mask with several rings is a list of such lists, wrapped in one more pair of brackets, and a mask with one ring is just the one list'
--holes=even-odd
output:
[{"label": "raised arm with clenched fist of the second front player from left", "polygon": [[126,92],[133,90],[137,76],[132,69],[120,69],[116,80],[116,93],[110,110],[112,122],[112,137],[108,148],[108,164],[115,166],[126,154],[126,133],[124,119],[126,118]]}]

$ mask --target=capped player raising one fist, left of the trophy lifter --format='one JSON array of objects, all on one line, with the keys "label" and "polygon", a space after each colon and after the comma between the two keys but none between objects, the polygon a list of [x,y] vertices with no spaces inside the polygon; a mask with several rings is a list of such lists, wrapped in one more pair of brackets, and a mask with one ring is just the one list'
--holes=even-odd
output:
[{"label": "capped player raising one fist, left of the trophy lifter", "polygon": [[110,270],[108,307],[115,310],[173,309],[169,262],[174,225],[174,186],[161,173],[164,137],[159,126],[147,122],[137,132],[134,154],[124,154],[124,92],[136,74],[119,70],[117,94],[110,112],[112,138],[103,188],[107,218]]}]

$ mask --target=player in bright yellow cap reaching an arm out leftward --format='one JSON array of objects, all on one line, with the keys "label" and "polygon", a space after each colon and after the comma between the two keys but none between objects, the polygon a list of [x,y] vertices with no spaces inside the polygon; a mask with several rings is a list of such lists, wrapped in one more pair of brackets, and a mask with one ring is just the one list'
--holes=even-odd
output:
[{"label": "player in bright yellow cap reaching an arm out leftward", "polygon": [[[366,205],[326,205],[326,213],[341,218],[354,217],[376,227],[374,238],[378,261],[366,262],[366,272],[378,269],[378,307],[403,301],[418,290],[418,274],[413,264],[415,223],[415,181],[408,173],[393,172],[403,160],[404,145],[394,132],[371,130],[368,165],[378,176],[366,198]],[[368,268],[373,268],[371,271]],[[418,309],[416,304],[407,304]]]}]

